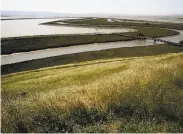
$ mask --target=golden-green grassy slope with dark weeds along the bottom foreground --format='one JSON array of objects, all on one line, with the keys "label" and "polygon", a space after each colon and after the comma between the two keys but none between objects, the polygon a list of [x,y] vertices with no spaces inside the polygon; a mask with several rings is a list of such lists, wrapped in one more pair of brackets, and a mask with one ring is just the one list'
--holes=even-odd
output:
[{"label": "golden-green grassy slope with dark weeds along the bottom foreground", "polygon": [[2,76],[2,132],[183,132],[183,53]]}]

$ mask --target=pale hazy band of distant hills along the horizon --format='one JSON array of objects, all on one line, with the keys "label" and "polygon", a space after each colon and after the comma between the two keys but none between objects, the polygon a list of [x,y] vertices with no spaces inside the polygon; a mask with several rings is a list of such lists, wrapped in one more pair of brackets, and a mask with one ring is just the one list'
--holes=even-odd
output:
[{"label": "pale hazy band of distant hills along the horizon", "polygon": [[142,15],[125,15],[125,14],[110,14],[110,13],[58,13],[58,12],[37,12],[37,11],[1,11],[1,17],[4,18],[51,18],[51,17],[108,17],[108,18],[123,18],[123,19],[151,19],[151,18],[183,18],[183,15],[170,16],[142,16]]}]

